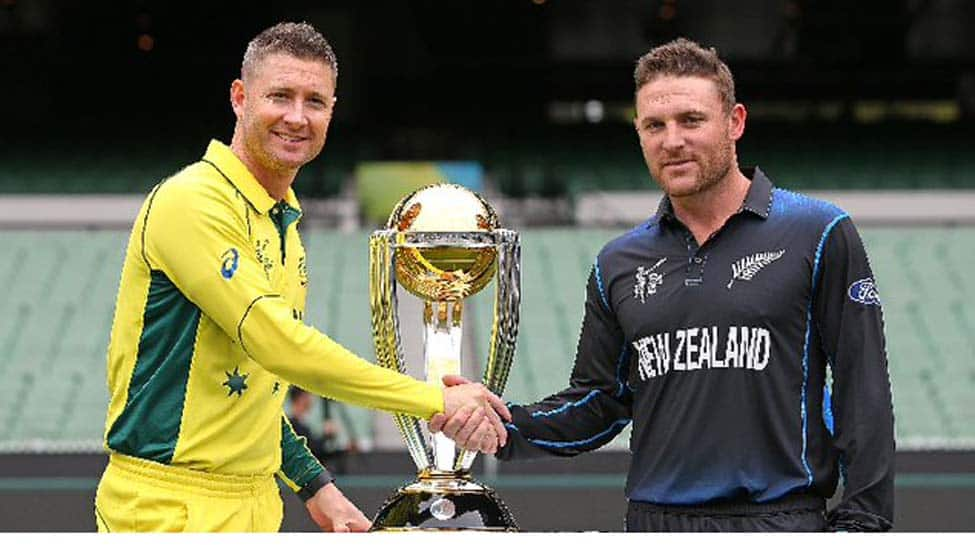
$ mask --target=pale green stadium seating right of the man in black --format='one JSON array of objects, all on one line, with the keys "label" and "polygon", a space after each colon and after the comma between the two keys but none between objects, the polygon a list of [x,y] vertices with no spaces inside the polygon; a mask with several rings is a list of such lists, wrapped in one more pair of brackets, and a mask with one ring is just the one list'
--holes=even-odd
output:
[{"label": "pale green stadium seating right of the man in black", "polygon": [[902,444],[975,438],[975,230],[870,229]]}]

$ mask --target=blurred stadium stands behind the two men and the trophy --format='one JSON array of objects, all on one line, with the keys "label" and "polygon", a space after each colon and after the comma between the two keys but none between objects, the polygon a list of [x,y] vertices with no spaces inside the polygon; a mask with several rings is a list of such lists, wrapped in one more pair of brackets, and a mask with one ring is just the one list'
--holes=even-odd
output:
[{"label": "blurred stadium stands behind the two men and the trophy", "polygon": [[[512,401],[565,384],[595,252],[659,198],[630,125],[635,59],[676,36],[716,46],[749,108],[741,162],[861,227],[884,300],[897,528],[975,530],[975,3],[241,6],[0,1],[0,530],[94,529],[127,229],[154,184],[229,139],[244,45],[280,20],[315,24],[340,60],[328,143],[296,184],[309,321],[371,354],[368,232],[415,184],[463,182],[523,233]],[[489,312],[474,301],[468,361]],[[330,414],[340,484],[374,513],[409,458],[388,416]],[[318,412],[304,418],[317,434]],[[525,529],[619,530],[626,435],[478,474]],[[285,529],[311,529],[285,497]]]}]

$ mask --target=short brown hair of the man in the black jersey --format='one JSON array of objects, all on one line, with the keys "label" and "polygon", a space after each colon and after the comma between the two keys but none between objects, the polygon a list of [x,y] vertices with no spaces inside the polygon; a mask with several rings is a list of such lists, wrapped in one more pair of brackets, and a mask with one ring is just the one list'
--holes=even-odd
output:
[{"label": "short brown hair of the man in the black jersey", "polygon": [[697,76],[710,79],[718,87],[725,111],[735,105],[735,79],[713,47],[707,49],[686,38],[659,45],[636,61],[633,80],[636,91],[659,76]]}]

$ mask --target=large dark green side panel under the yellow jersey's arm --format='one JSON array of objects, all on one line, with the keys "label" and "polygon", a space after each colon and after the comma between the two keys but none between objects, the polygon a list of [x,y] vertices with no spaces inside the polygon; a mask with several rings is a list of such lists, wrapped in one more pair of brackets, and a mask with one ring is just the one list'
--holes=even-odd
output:
[{"label": "large dark green side panel under the yellow jersey's arm", "polygon": [[200,309],[152,271],[125,409],[108,434],[116,452],[168,464],[176,451]]}]

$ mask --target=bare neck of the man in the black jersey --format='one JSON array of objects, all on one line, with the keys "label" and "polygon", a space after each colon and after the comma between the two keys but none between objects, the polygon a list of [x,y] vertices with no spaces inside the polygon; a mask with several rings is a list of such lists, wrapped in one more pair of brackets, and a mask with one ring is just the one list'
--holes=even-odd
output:
[{"label": "bare neck of the man in the black jersey", "polygon": [[750,186],[751,180],[733,167],[724,180],[708,190],[687,197],[671,197],[670,204],[677,219],[701,245],[741,209]]}]

